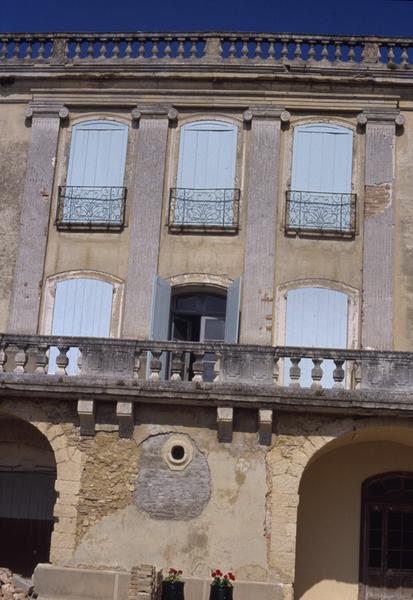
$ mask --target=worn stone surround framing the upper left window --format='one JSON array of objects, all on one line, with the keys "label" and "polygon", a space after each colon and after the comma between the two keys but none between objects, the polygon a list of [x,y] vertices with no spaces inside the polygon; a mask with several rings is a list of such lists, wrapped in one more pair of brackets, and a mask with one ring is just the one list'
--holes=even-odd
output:
[{"label": "worn stone surround framing the upper left window", "polygon": [[77,235],[79,233],[93,233],[93,235],[106,234],[106,231],[93,231],[93,230],[82,230],[82,229],[73,229],[73,230],[64,230],[59,231],[55,225],[55,217],[57,215],[57,203],[58,203],[58,190],[61,186],[65,186],[67,182],[67,175],[69,169],[69,159],[70,159],[70,149],[72,145],[72,137],[73,137],[73,128],[76,125],[80,125],[82,123],[88,123],[93,121],[110,121],[112,123],[119,123],[120,125],[126,125],[127,127],[127,142],[126,142],[126,155],[125,155],[125,169],[123,174],[123,187],[127,190],[127,196],[125,201],[125,214],[124,214],[124,224],[120,231],[113,231],[111,233],[121,234],[129,224],[129,214],[130,214],[130,202],[128,199],[130,198],[132,192],[133,185],[133,170],[134,170],[134,156],[135,152],[135,136],[133,135],[133,124],[131,118],[127,118],[123,115],[113,114],[109,112],[91,112],[91,113],[83,113],[81,115],[76,115],[74,117],[69,115],[69,124],[66,127],[62,128],[62,137],[59,140],[58,151],[56,155],[57,168],[54,178],[54,185],[52,191],[52,206],[51,206],[51,214],[53,218],[50,219],[51,225],[54,230],[57,231],[58,234],[64,233],[65,235]]}]

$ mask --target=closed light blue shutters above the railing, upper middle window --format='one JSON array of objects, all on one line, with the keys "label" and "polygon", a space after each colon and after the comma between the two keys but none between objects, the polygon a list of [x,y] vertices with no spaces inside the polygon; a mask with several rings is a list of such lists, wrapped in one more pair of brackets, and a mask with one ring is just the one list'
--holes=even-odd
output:
[{"label": "closed light blue shutters above the railing, upper middle window", "polygon": [[234,188],[237,128],[198,121],[181,129],[177,187]]}]

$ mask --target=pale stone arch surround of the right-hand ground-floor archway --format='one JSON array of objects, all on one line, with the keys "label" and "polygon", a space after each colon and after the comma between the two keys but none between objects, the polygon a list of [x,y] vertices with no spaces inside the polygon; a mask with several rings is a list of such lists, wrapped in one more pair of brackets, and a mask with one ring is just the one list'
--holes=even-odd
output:
[{"label": "pale stone arch surround of the right-hand ground-floor archway", "polygon": [[[315,418],[303,428],[299,422],[279,426],[276,444],[266,457],[269,492],[267,496],[268,558],[273,574],[286,588],[295,579],[300,484],[304,472],[319,458],[358,441],[387,440],[397,432],[403,443],[411,437],[413,426],[400,419]],[[406,444],[407,445],[407,444]]]}]

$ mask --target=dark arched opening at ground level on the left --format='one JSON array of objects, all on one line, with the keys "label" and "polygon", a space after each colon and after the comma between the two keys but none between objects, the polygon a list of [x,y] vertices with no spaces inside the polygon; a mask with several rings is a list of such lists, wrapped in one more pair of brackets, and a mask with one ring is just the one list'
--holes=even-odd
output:
[{"label": "dark arched opening at ground level on the left", "polygon": [[0,565],[30,577],[49,562],[56,463],[30,423],[0,416]]}]

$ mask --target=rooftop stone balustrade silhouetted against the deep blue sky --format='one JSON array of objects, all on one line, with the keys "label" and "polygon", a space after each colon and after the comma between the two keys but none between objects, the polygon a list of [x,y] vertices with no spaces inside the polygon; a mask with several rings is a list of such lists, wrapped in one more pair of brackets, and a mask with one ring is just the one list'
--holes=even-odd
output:
[{"label": "rooftop stone balustrade silhouetted against the deep blue sky", "polygon": [[0,34],[0,68],[145,63],[403,70],[413,65],[413,38],[236,32]]}]

